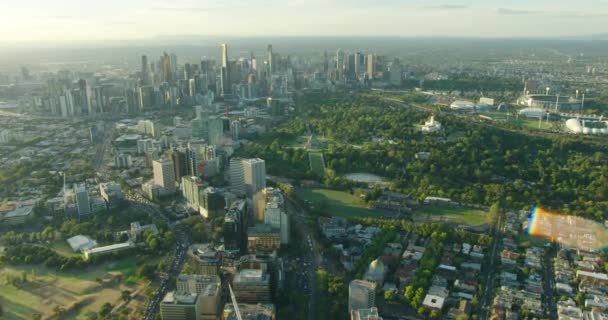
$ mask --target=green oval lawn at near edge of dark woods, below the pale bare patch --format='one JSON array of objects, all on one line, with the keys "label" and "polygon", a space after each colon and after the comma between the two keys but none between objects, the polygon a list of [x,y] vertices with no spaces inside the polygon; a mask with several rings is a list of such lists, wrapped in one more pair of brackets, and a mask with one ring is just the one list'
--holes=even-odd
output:
[{"label": "green oval lawn at near edge of dark woods, below the pale bare patch", "polygon": [[329,215],[345,218],[379,217],[378,211],[365,207],[365,202],[356,196],[329,189],[296,189],[302,200],[311,201],[315,209]]}]

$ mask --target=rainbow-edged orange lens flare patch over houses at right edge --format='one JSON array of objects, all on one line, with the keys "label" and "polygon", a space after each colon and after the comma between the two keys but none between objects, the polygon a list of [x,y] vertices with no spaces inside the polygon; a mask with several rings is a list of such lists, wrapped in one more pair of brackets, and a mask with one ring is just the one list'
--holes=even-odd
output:
[{"label": "rainbow-edged orange lens flare patch over houses at right edge", "polygon": [[598,222],[585,218],[552,213],[534,206],[526,232],[561,245],[588,251],[608,245],[608,231]]}]

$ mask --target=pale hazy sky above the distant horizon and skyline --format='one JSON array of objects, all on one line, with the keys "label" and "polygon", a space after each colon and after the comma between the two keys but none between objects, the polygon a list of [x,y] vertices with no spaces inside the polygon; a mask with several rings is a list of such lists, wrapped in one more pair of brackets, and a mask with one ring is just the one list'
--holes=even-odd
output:
[{"label": "pale hazy sky above the distant horizon and skyline", "polygon": [[[574,5],[575,4],[575,5]],[[608,32],[608,0],[0,0],[0,42]]]}]

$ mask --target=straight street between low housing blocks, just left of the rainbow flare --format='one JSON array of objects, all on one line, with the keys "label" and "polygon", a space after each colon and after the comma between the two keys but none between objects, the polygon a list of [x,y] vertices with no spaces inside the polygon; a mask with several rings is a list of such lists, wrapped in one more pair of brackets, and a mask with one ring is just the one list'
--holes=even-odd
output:
[{"label": "straight street between low housing blocks, just left of the rainbow flare", "polygon": [[490,251],[490,263],[485,266],[482,279],[485,280],[483,293],[479,299],[479,319],[489,319],[490,305],[492,304],[492,293],[494,292],[496,276],[498,274],[496,261],[499,248],[502,248],[502,235],[504,231],[504,214],[498,216],[496,227],[492,229],[491,236],[494,238],[492,250]]}]

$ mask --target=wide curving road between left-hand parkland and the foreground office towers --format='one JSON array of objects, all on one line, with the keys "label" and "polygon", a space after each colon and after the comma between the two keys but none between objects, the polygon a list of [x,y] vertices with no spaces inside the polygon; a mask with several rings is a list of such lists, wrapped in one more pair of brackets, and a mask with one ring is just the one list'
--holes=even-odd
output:
[{"label": "wide curving road between left-hand parkland and the foreground office towers", "polygon": [[146,212],[154,219],[164,221],[169,226],[169,229],[175,233],[175,256],[173,257],[171,267],[169,268],[167,275],[162,277],[158,290],[154,294],[154,297],[150,299],[144,315],[145,320],[154,320],[156,318],[156,314],[158,313],[160,302],[165,297],[168,288],[170,287],[170,281],[175,281],[175,278],[182,271],[186,261],[186,251],[190,246],[190,239],[180,228],[179,223],[171,223],[169,219],[162,214],[158,205],[144,198],[140,193],[129,191],[125,194],[125,197],[132,207]]}]

